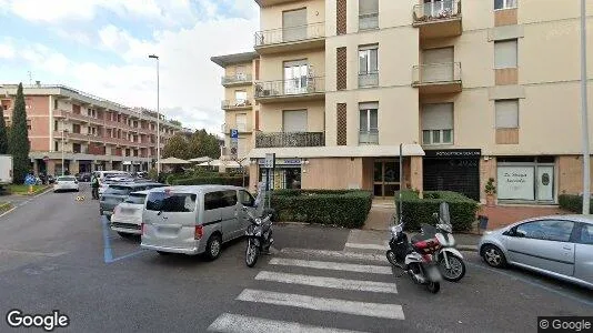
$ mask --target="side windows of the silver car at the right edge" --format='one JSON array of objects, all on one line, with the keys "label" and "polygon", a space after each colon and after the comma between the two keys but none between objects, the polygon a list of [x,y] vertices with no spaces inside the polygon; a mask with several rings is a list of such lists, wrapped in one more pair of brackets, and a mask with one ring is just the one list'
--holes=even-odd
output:
[{"label": "side windows of the silver car at the right edge", "polygon": [[516,226],[515,234],[526,239],[569,242],[574,222],[560,220],[542,220],[527,222]]}]

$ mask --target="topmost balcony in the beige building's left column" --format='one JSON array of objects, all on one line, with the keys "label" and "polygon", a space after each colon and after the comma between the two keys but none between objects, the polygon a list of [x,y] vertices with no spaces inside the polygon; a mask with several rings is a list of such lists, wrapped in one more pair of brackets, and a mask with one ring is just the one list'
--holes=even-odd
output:
[{"label": "topmost balcony in the beige building's left column", "polygon": [[254,48],[260,54],[319,49],[324,46],[324,22],[255,32]]}]

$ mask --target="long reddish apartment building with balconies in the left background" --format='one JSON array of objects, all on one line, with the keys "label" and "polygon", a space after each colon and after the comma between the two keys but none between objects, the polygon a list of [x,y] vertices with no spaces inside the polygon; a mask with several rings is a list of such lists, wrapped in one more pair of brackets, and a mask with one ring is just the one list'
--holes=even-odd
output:
[{"label": "long reddish apartment building with balconies in the left background", "polygon": [[[70,174],[96,170],[148,171],[157,160],[157,113],[132,109],[63,85],[24,87],[31,169]],[[11,123],[16,84],[0,85]],[[161,150],[182,128],[161,115]],[[63,157],[63,165],[62,165]]]}]

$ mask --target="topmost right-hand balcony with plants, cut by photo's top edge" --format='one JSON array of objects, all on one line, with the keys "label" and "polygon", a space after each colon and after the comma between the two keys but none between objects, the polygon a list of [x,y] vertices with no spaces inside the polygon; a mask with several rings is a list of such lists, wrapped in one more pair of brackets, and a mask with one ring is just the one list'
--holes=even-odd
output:
[{"label": "topmost right-hand balcony with plants, cut by photo's top edge", "polygon": [[420,28],[420,39],[455,37],[462,32],[460,0],[415,4],[413,16],[413,26]]}]

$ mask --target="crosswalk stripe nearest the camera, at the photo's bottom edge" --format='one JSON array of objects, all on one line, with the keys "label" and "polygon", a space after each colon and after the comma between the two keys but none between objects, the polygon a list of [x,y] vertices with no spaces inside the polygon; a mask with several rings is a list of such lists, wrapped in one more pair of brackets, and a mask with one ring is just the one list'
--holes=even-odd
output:
[{"label": "crosswalk stripe nearest the camera, at the photo's bottom edge", "polygon": [[310,326],[295,322],[267,320],[254,316],[223,313],[209,327],[208,331],[225,333],[362,333],[358,331],[339,330],[331,327]]}]

